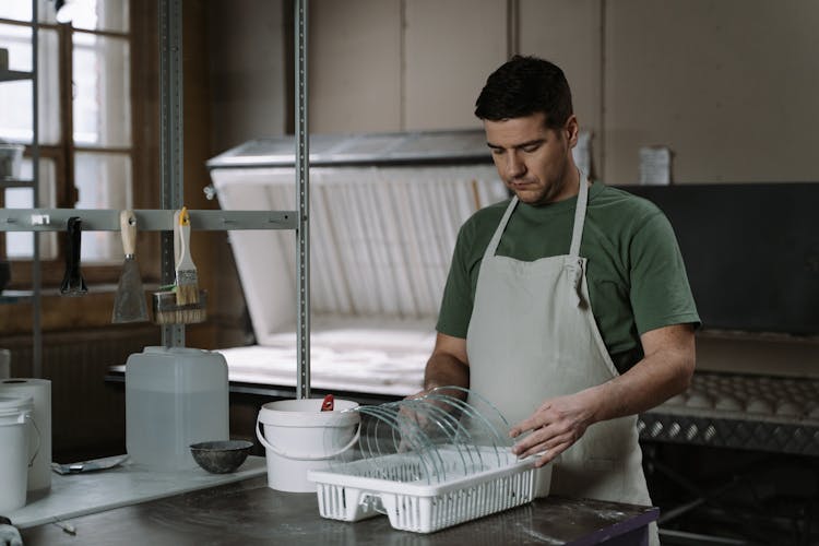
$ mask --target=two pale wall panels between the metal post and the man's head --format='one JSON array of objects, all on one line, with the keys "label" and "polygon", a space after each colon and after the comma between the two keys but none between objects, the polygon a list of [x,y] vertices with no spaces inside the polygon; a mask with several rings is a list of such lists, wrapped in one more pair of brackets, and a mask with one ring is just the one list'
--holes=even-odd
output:
[{"label": "two pale wall panels between the metal post and the man's head", "polygon": [[479,127],[477,92],[507,57],[506,10],[506,0],[311,1],[311,130]]}]

